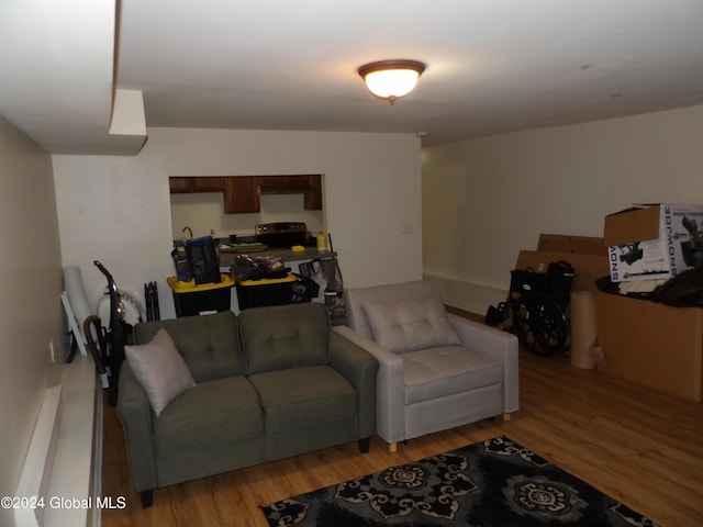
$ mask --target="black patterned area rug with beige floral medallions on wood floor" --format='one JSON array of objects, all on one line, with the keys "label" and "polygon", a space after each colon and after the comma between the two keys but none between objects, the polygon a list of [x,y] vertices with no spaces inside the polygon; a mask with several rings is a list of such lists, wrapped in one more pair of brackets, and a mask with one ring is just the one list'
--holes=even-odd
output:
[{"label": "black patterned area rug with beige floral medallions on wood floor", "polygon": [[656,526],[504,436],[261,509],[271,527]]}]

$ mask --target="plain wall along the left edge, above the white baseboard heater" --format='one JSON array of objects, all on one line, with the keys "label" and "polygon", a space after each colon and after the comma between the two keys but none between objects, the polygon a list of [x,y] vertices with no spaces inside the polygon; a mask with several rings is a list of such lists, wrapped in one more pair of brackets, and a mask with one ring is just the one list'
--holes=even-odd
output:
[{"label": "plain wall along the left edge, above the white baseboard heater", "polygon": [[[2,117],[0,182],[0,496],[13,496],[45,389],[60,379],[66,344],[52,160]],[[0,525],[14,524],[10,513],[0,508]]]}]

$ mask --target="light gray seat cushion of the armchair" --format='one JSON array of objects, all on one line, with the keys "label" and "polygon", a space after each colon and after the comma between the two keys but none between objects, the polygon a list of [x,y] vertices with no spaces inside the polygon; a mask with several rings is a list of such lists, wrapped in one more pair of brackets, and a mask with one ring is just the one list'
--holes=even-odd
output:
[{"label": "light gray seat cushion of the armchair", "polygon": [[405,404],[429,401],[503,381],[503,365],[461,346],[412,351],[403,357]]}]

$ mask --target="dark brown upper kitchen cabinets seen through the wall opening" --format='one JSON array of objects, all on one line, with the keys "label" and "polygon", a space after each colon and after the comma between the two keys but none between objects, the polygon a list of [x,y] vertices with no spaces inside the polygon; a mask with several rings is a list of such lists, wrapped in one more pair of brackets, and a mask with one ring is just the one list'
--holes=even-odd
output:
[{"label": "dark brown upper kitchen cabinets seen through the wall opening", "polygon": [[226,214],[259,212],[260,194],[303,194],[306,211],[322,210],[322,176],[177,176],[168,178],[170,192],[222,192]]}]

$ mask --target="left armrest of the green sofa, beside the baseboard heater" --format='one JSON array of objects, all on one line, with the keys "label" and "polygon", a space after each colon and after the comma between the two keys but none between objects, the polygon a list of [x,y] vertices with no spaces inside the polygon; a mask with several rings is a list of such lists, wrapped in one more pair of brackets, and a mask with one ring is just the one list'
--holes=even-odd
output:
[{"label": "left armrest of the green sofa, beside the baseboard heater", "polygon": [[118,416],[124,428],[132,484],[137,492],[156,489],[152,406],[127,361],[122,363],[119,382]]}]

